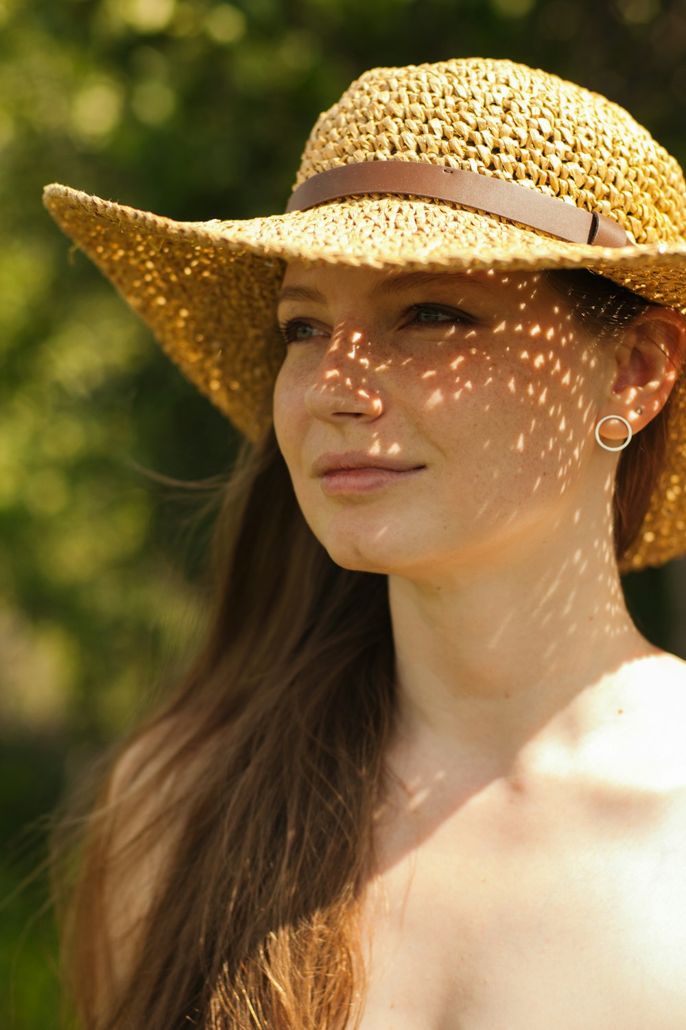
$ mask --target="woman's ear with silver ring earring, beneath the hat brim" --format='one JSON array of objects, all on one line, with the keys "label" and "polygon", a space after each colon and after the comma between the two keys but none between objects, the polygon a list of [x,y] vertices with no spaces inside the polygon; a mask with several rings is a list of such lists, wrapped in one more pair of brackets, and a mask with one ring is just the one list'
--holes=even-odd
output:
[{"label": "woman's ear with silver ring earring, beneath the hat brim", "polygon": [[[657,305],[646,308],[616,340],[611,397],[598,417],[621,415],[634,432],[642,430],[666,404],[685,357],[684,314]],[[626,430],[621,422],[605,422],[603,435],[623,439]]]}]

